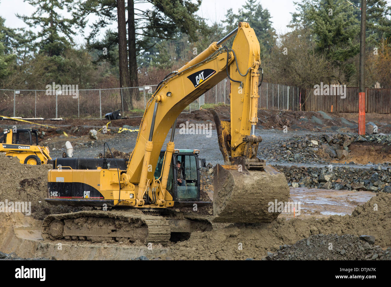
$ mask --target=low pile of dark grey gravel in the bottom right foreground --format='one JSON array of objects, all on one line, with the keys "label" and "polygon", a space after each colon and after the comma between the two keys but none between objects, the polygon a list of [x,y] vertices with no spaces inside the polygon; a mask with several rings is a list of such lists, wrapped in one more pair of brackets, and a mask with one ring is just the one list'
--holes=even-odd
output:
[{"label": "low pile of dark grey gravel in the bottom right foreground", "polygon": [[383,250],[355,235],[311,235],[293,245],[268,252],[264,260],[390,260],[391,248]]}]

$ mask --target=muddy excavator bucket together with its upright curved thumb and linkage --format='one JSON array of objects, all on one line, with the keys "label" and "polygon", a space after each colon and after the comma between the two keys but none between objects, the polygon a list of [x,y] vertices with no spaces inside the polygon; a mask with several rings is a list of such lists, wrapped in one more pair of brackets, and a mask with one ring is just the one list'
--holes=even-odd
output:
[{"label": "muddy excavator bucket together with its upright curved thumb and linkage", "polygon": [[[289,187],[285,175],[256,157],[258,143],[245,143],[249,151],[241,159],[231,157],[231,123],[210,110],[216,124],[224,165],[213,170],[214,221],[233,223],[271,222],[280,214],[280,202],[287,202]],[[281,205],[280,205],[281,206]]]}]

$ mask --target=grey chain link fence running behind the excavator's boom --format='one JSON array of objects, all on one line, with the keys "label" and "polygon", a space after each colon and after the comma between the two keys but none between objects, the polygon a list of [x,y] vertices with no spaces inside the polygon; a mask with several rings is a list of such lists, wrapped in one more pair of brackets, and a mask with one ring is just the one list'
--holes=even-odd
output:
[{"label": "grey chain link fence running behind the excavator's boom", "polygon": [[[124,116],[142,116],[145,106],[157,85],[113,88],[79,89],[77,91],[5,90],[0,89],[0,116],[23,118],[83,118],[102,119],[116,110]],[[76,92],[76,93],[75,93]],[[259,88],[261,109],[298,111],[297,87],[262,83]],[[190,103],[183,112],[192,112],[205,104],[230,104],[230,81],[224,79]],[[131,107],[133,106],[133,109]]]}]

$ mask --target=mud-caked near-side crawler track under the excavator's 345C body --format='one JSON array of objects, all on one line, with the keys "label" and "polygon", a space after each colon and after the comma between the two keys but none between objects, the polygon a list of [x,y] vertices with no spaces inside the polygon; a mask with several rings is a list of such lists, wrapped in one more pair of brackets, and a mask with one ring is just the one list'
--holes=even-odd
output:
[{"label": "mud-caked near-side crawler track under the excavator's 345C body", "polygon": [[170,225],[164,217],[124,210],[52,214],[44,219],[42,225],[42,237],[45,240],[115,240],[164,244],[169,241],[170,232]]}]

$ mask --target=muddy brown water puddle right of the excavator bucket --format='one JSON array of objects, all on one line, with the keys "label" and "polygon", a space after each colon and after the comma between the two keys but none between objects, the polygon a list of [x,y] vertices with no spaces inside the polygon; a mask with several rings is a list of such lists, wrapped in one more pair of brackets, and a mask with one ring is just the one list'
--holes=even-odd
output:
[{"label": "muddy brown water puddle right of the excavator bucket", "polygon": [[[370,191],[346,191],[331,189],[306,189],[291,188],[289,201],[300,203],[295,204],[295,216],[312,216],[316,218],[328,217],[331,215],[352,214],[357,205],[370,200],[376,193]],[[287,210],[290,211],[290,210]],[[293,212],[284,214],[287,218],[293,217]]]}]

